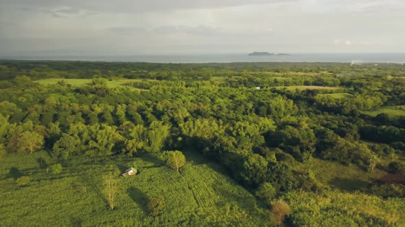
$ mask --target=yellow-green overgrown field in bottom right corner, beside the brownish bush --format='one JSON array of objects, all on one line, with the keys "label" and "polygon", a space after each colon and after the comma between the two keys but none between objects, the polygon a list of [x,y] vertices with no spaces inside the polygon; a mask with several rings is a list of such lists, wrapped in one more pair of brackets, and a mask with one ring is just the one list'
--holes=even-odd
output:
[{"label": "yellow-green overgrown field in bottom right corner, beside the brownish bush", "polygon": [[[296,226],[405,226],[405,200],[364,193],[287,193]],[[373,217],[373,218],[371,218]]]}]

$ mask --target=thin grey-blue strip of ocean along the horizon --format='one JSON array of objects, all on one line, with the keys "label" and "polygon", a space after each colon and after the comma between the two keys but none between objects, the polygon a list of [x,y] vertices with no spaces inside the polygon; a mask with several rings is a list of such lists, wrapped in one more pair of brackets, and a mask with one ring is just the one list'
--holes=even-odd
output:
[{"label": "thin grey-blue strip of ocean along the horizon", "polygon": [[345,62],[405,63],[405,53],[291,53],[290,55],[30,55],[0,56],[0,59],[71,60],[97,62],[230,63],[230,62]]}]

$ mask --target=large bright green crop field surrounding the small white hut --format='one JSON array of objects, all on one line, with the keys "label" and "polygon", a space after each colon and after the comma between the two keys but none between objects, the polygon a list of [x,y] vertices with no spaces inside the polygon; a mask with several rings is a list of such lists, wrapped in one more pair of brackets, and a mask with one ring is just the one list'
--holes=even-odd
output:
[{"label": "large bright green crop field surrounding the small white hut", "polygon": [[[155,155],[124,155],[62,163],[59,175],[47,173],[54,163],[47,152],[10,154],[0,165],[1,226],[267,226],[268,210],[251,193],[222,174],[215,163],[186,154],[187,165],[177,174]],[[41,164],[42,163],[42,164]],[[119,178],[117,209],[108,209],[102,178],[113,165],[139,175]],[[16,178],[30,176],[27,187]],[[152,196],[163,196],[163,214],[148,215]]]}]

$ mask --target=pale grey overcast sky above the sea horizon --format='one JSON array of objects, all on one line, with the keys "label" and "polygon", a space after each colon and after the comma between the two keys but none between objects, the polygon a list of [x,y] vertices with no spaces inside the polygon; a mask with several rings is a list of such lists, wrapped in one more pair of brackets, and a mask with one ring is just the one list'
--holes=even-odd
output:
[{"label": "pale grey overcast sky above the sea horizon", "polygon": [[0,0],[0,55],[405,52],[404,0]]}]

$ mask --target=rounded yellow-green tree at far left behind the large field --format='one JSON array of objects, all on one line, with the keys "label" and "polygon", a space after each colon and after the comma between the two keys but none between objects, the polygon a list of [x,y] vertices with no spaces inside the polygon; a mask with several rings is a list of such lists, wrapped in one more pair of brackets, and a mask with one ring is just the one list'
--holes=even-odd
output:
[{"label": "rounded yellow-green tree at far left behind the large field", "polygon": [[44,138],[42,135],[31,131],[25,131],[18,137],[16,151],[32,153],[35,150],[42,148],[43,144]]}]

